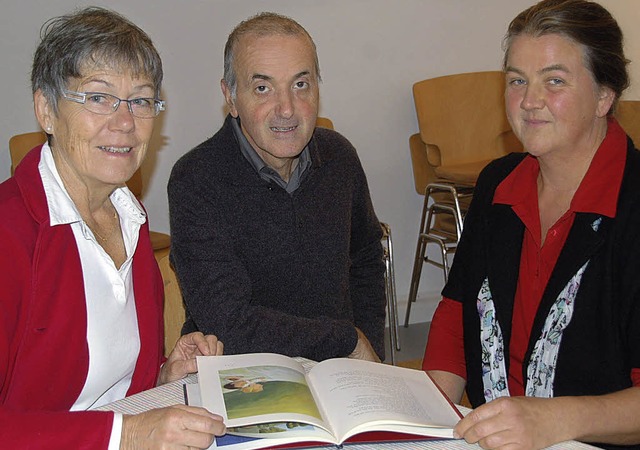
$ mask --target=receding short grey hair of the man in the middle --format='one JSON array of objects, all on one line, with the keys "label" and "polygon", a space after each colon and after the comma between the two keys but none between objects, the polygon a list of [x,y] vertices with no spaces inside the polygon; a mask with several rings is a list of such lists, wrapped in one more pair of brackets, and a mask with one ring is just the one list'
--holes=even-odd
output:
[{"label": "receding short grey hair of the man in the middle", "polygon": [[233,62],[235,59],[236,46],[242,36],[252,34],[255,36],[302,36],[309,40],[313,49],[314,65],[318,81],[320,78],[320,64],[318,62],[318,52],[316,44],[311,35],[295,20],[273,12],[262,12],[244,20],[238,24],[227,38],[224,46],[224,81],[231,91],[231,97],[236,97],[238,78]]}]

